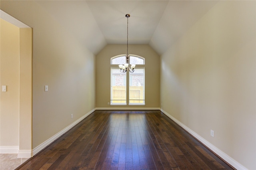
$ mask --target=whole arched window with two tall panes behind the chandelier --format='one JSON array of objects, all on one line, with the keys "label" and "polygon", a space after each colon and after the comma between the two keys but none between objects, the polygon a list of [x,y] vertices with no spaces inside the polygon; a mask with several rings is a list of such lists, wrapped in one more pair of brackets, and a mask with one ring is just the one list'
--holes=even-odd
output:
[{"label": "whole arched window with two tall panes behind the chandelier", "polygon": [[[111,58],[111,105],[126,105],[126,96],[129,105],[145,104],[145,58],[130,54],[129,64],[136,64],[134,73],[122,73],[116,65],[126,63],[126,55],[117,55]],[[114,66],[115,65],[115,66]],[[126,77],[128,76],[128,79]],[[128,82],[127,82],[128,81]],[[126,85],[126,83],[128,83]],[[128,94],[126,93],[128,92]]]}]

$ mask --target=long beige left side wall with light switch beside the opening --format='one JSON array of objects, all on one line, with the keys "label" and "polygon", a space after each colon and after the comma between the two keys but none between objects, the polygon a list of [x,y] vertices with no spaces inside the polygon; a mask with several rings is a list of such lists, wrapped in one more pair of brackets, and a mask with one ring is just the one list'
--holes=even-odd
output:
[{"label": "long beige left side wall with light switch beside the opening", "polygon": [[[36,148],[95,108],[95,56],[40,2],[1,1],[1,9],[33,28],[32,135]],[[47,92],[44,85],[48,85]]]}]

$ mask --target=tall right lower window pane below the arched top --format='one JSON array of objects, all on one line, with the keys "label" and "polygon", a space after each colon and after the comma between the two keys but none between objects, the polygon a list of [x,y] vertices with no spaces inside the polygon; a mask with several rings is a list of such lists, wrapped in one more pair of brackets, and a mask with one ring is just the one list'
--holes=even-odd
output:
[{"label": "tall right lower window pane below the arched top", "polygon": [[145,69],[129,74],[129,104],[145,104]]}]

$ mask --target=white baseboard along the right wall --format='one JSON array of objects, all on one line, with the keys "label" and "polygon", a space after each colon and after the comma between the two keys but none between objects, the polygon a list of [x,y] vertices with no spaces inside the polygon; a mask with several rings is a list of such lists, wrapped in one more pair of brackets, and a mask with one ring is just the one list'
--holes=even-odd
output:
[{"label": "white baseboard along the right wall", "polygon": [[172,115],[170,115],[169,113],[167,113],[166,111],[164,111],[163,109],[161,109],[160,111],[162,111],[166,116],[168,116],[170,119],[172,119],[175,123],[177,123],[178,125],[180,125],[182,128],[184,128],[188,133],[190,133],[192,136],[194,136],[194,138],[198,139],[200,142],[202,142],[205,146],[207,146],[208,148],[210,148],[210,150],[212,150],[214,153],[216,153],[218,156],[220,156],[223,160],[225,160],[226,162],[228,162],[231,166],[233,166],[234,168],[236,168],[237,170],[247,170],[247,168],[245,168],[244,166],[242,166],[240,163],[238,163],[236,160],[234,160],[233,158],[231,158],[230,156],[228,156],[226,153],[222,152],[220,149],[218,149],[216,146],[212,145],[210,142],[208,142],[207,140],[205,140],[204,138],[202,138],[200,135],[198,135],[196,132],[194,132],[193,130],[191,130],[190,128],[186,127],[184,124],[182,124],[180,121],[178,121],[177,119],[175,119],[174,117],[172,117]]}]

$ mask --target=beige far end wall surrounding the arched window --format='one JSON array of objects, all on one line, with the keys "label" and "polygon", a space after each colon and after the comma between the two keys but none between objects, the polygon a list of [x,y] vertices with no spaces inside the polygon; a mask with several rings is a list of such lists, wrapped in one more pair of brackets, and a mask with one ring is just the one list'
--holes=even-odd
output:
[{"label": "beige far end wall surrounding the arched window", "polygon": [[[145,58],[145,106],[110,106],[110,58],[126,53],[127,45],[106,45],[96,56],[96,107],[159,107],[159,56],[149,45],[129,45],[129,54]],[[117,66],[118,67],[118,66]],[[119,68],[119,67],[118,67]],[[128,81],[127,81],[128,83]]]}]

